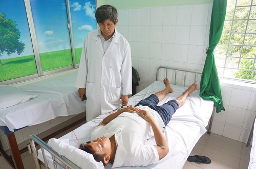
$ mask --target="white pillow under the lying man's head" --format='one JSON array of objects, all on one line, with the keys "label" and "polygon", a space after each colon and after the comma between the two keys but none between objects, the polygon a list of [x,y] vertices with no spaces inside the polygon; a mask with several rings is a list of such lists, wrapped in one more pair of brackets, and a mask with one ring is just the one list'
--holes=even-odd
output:
[{"label": "white pillow under the lying man's head", "polygon": [[93,155],[69,144],[69,139],[51,138],[48,145],[59,155],[65,156],[80,168],[104,169],[103,163],[95,161]]}]

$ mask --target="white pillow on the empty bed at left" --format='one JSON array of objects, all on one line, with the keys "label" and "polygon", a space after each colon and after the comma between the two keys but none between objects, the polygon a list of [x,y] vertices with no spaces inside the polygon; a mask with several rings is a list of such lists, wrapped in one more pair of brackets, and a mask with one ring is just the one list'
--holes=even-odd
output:
[{"label": "white pillow on the empty bed at left", "polygon": [[37,95],[29,95],[14,86],[0,85],[0,109],[24,103]]}]

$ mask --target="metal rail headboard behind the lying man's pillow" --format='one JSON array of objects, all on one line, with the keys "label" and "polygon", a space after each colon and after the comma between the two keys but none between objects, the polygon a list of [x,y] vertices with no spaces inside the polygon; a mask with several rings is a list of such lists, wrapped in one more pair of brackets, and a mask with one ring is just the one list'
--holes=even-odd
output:
[{"label": "metal rail headboard behind the lying man's pillow", "polygon": [[39,148],[42,151],[42,156],[44,158],[44,164],[46,168],[49,168],[46,156],[45,156],[45,151],[49,152],[52,156],[53,160],[53,165],[54,168],[66,168],[66,169],[78,169],[79,167],[71,162],[69,159],[65,158],[64,156],[59,155],[57,152],[55,152],[50,146],[45,141],[42,141],[39,137],[36,135],[30,135],[29,137],[29,143],[28,143],[28,149],[29,153],[33,155],[33,159],[36,165],[37,169],[41,169],[41,162],[37,158],[37,150],[36,150],[36,144],[38,144]]}]

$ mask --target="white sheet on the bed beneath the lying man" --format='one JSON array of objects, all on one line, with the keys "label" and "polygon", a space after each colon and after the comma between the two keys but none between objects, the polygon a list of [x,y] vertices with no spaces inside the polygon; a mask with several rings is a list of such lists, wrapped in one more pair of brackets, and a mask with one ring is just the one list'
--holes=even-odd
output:
[{"label": "white sheet on the bed beneath the lying man", "polygon": [[[164,89],[164,84],[160,81],[155,81],[150,86],[146,87],[144,90],[140,91],[136,95],[129,99],[128,105],[136,105],[140,100],[146,98],[152,93]],[[168,100],[176,99],[182,94],[186,89],[183,86],[172,85],[174,92],[169,93],[165,96],[159,105],[167,102]],[[193,150],[195,144],[199,138],[206,132],[205,127],[208,124],[208,120],[211,116],[213,109],[212,101],[205,101],[199,96],[199,90],[191,93],[186,103],[179,108],[173,115],[169,124],[165,127],[165,136],[169,145],[169,153],[157,164],[152,164],[148,166],[135,166],[135,167],[118,167],[118,168],[177,168],[181,169],[189,156],[190,152]],[[86,142],[90,139],[91,131],[101,122],[101,120],[108,114],[103,114],[90,122],[78,127],[74,131],[60,137],[59,139],[69,139],[72,146],[78,147],[79,142]],[[78,140],[77,140],[78,139]],[[148,144],[154,144],[151,142],[154,139],[149,139]],[[44,161],[41,152],[38,152],[38,159]],[[53,168],[52,159],[49,153],[47,153],[47,161],[50,168]],[[111,168],[106,165],[105,168]]]}]

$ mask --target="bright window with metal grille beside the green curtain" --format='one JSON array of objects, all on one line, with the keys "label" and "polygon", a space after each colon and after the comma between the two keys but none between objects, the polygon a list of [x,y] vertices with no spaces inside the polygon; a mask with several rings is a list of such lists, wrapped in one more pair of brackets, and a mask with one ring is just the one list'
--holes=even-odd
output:
[{"label": "bright window with metal grille beside the green curtain", "polygon": [[256,83],[256,0],[228,0],[215,62],[222,78]]}]

